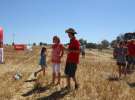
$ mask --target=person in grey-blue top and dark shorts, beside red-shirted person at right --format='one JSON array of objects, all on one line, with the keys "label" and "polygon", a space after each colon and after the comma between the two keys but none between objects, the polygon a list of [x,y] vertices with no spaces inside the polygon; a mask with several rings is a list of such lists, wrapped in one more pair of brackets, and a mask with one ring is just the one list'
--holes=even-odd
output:
[{"label": "person in grey-blue top and dark shorts, beside red-shirted person at right", "polygon": [[117,65],[119,67],[119,78],[121,77],[122,72],[126,76],[126,56],[127,56],[127,48],[124,47],[124,42],[119,43],[119,47],[116,50],[117,55]]}]

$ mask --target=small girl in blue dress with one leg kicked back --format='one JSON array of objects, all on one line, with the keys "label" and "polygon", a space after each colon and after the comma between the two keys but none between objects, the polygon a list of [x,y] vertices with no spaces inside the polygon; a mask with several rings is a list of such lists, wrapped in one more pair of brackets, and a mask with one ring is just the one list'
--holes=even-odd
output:
[{"label": "small girl in blue dress with one leg kicked back", "polygon": [[41,71],[43,71],[43,75],[45,76],[45,68],[47,67],[47,64],[46,64],[46,48],[45,47],[43,47],[41,49],[39,65],[41,65],[41,69],[34,73],[35,77]]}]

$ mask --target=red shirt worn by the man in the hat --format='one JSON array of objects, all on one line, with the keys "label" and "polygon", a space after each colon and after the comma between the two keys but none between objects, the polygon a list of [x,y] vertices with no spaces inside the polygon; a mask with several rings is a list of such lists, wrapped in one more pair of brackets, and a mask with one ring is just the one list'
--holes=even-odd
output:
[{"label": "red shirt worn by the man in the hat", "polygon": [[[68,46],[69,50],[80,50],[80,42],[76,38],[72,38]],[[67,55],[67,63],[79,63],[79,52],[69,52]]]}]

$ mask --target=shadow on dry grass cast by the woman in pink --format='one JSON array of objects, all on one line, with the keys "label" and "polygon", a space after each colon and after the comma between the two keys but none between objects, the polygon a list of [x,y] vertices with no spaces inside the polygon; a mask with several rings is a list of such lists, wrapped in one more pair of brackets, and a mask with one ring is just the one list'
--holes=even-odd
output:
[{"label": "shadow on dry grass cast by the woman in pink", "polygon": [[45,92],[46,90],[49,89],[49,86],[45,86],[45,87],[34,87],[32,90],[28,91],[27,93],[24,93],[22,94],[23,97],[27,97],[27,96],[30,96],[34,93],[43,93]]}]

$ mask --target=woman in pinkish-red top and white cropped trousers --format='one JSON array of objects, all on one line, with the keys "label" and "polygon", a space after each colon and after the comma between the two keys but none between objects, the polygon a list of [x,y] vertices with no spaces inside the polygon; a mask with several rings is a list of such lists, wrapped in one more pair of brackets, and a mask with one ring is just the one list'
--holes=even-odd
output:
[{"label": "woman in pinkish-red top and white cropped trousers", "polygon": [[52,84],[55,84],[56,77],[58,79],[56,85],[60,84],[60,63],[61,58],[64,53],[64,47],[62,44],[60,44],[60,39],[57,36],[53,37],[53,45],[52,45],[52,67],[53,67],[53,73],[52,73]]}]

